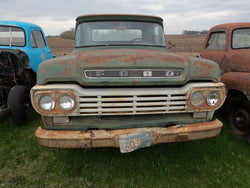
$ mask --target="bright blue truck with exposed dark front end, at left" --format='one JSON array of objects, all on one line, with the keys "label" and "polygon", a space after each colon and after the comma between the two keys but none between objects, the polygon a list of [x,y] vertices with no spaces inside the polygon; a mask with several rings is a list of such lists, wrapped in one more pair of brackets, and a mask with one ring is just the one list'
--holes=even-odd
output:
[{"label": "bright blue truck with exposed dark front end, at left", "polygon": [[53,58],[38,25],[0,21],[0,118],[23,124],[32,106],[29,90],[36,84],[39,64]]}]

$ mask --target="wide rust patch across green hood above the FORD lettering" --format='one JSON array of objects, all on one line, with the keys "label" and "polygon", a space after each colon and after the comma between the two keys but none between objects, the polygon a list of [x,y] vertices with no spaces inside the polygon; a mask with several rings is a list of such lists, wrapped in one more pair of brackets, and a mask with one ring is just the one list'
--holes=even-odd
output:
[{"label": "wide rust patch across green hood above the FORD lettering", "polygon": [[[78,66],[84,63],[85,66],[101,64],[113,64],[114,66],[124,63],[131,66],[139,66],[145,61],[147,62],[161,62],[162,66],[171,62],[187,63],[187,57],[183,55],[166,53],[166,51],[146,50],[146,49],[105,49],[105,50],[91,50],[85,53],[74,54],[77,55]],[[79,67],[79,68],[80,68]]]}]

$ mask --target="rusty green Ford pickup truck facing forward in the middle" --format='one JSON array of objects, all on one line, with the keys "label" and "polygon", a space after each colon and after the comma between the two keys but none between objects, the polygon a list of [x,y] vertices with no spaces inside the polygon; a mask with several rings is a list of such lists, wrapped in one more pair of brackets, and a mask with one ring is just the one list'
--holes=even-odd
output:
[{"label": "rusty green Ford pickup truck facing forward in the middle", "polygon": [[224,99],[217,63],[169,53],[145,15],[78,17],[73,52],[43,62],[31,90],[40,145],[122,153],[217,136]]}]

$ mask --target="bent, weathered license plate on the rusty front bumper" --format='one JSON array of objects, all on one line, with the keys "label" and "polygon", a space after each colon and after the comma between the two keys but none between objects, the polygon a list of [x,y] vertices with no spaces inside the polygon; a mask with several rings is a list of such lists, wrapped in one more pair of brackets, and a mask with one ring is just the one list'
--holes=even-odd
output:
[{"label": "bent, weathered license plate on the rusty front bumper", "polygon": [[141,134],[128,134],[119,137],[121,153],[128,153],[139,148],[149,147],[152,145],[151,132]]}]

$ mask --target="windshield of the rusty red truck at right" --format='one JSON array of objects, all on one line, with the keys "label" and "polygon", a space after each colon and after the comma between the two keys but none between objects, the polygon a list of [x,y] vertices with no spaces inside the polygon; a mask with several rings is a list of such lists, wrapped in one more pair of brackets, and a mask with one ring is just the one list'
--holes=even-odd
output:
[{"label": "windshield of the rusty red truck at right", "polygon": [[232,48],[250,48],[250,28],[236,29],[233,31]]}]

